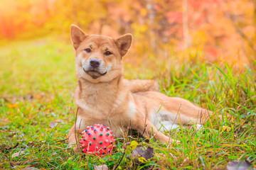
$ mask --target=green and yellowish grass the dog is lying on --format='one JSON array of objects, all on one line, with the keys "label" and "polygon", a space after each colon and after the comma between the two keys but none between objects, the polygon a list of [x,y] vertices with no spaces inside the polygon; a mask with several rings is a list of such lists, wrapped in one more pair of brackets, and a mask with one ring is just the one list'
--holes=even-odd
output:
[{"label": "green and yellowish grass the dog is lying on", "polygon": [[[132,62],[127,63],[128,79],[157,75],[164,94],[216,111],[223,121],[213,116],[201,130],[166,132],[181,141],[170,147],[135,134],[133,138],[118,139],[112,155],[95,157],[73,152],[66,140],[76,110],[75,62],[70,43],[43,38],[10,42],[0,51],[1,169],[93,169],[94,164],[136,169],[128,145],[132,140],[154,147],[154,158],[137,169],[225,169],[228,162],[245,159],[256,164],[256,72],[247,67],[238,74],[227,64],[199,60],[180,64],[174,57],[166,62],[169,64],[134,68]],[[49,126],[52,121],[58,123],[54,128]],[[11,157],[21,151],[24,154]]]}]

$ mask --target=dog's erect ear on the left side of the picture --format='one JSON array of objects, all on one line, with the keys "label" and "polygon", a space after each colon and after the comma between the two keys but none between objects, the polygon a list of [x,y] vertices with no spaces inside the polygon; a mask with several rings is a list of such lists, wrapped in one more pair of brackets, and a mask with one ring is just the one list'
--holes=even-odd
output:
[{"label": "dog's erect ear on the left side of the picture", "polygon": [[75,26],[74,24],[71,25],[70,28],[70,38],[73,44],[73,47],[75,50],[78,49],[80,43],[87,38],[87,35],[85,32],[83,32],[78,26]]}]

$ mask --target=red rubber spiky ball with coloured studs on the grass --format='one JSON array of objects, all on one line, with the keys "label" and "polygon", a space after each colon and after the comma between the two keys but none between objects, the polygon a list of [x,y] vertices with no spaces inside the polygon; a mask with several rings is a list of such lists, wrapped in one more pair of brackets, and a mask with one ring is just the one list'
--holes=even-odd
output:
[{"label": "red rubber spiky ball with coloured studs on the grass", "polygon": [[114,142],[113,131],[106,128],[106,125],[99,124],[87,126],[80,139],[82,152],[100,156],[111,154],[115,148]]}]

